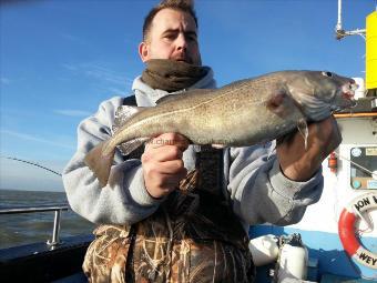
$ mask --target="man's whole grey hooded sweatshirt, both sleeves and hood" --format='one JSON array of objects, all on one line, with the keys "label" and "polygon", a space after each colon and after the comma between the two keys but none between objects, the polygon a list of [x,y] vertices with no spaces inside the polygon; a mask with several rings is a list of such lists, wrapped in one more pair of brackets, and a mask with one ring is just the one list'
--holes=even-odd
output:
[{"label": "man's whole grey hooded sweatshirt, both sleeves and hood", "polygon": [[[192,89],[215,88],[213,71]],[[153,107],[166,95],[163,90],[146,85],[141,77],[132,87],[139,107]],[[132,224],[153,212],[165,200],[152,198],[144,185],[140,160],[124,161],[120,152],[111,168],[108,185],[101,188],[93,172],[85,165],[85,154],[112,134],[116,109],[123,99],[115,97],[101,103],[94,115],[83,120],[78,128],[78,150],[63,171],[63,183],[73,211],[94,223]],[[281,172],[275,154],[275,142],[247,148],[224,150],[224,194],[245,229],[248,225],[298,222],[307,205],[319,200],[323,176],[318,171],[306,182],[295,182]],[[190,145],[183,154],[185,168],[195,164],[198,145]]]}]

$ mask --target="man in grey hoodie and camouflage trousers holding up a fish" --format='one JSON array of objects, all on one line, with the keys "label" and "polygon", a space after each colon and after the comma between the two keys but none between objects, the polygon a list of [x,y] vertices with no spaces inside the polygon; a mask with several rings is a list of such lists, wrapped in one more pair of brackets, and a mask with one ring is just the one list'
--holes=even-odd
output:
[{"label": "man in grey hoodie and camouflage trousers holding up a fish", "polygon": [[[190,1],[151,10],[139,52],[146,69],[133,83],[139,107],[183,89],[215,88],[202,67]],[[165,59],[165,60],[154,60]],[[298,222],[322,193],[322,161],[340,142],[333,118],[264,146],[214,150],[163,133],[141,156],[115,154],[101,189],[85,154],[116,128],[124,99],[103,102],[79,125],[78,151],[63,173],[72,209],[94,223],[84,272],[92,282],[252,282],[247,228]],[[276,151],[275,151],[276,146]]]}]

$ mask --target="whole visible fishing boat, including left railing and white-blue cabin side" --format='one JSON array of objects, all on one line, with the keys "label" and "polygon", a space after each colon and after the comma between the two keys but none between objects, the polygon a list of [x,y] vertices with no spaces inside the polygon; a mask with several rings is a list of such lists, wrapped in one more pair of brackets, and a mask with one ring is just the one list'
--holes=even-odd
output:
[{"label": "whole visible fishing boat, including left railing and white-blue cabin side", "polygon": [[[356,78],[357,107],[337,112],[343,142],[323,163],[320,200],[289,226],[249,229],[256,282],[377,282],[377,11],[366,29],[342,28],[337,39],[366,38],[366,78]],[[1,209],[0,214],[54,212],[51,240],[0,250],[1,282],[86,282],[81,270],[92,235],[60,237],[68,205]]]}]

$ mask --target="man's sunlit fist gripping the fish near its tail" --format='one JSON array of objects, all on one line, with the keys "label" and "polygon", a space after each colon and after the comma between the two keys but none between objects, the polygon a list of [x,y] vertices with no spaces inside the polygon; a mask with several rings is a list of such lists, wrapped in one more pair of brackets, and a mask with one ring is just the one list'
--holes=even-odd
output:
[{"label": "man's sunlit fist gripping the fish near its tail", "polygon": [[141,161],[145,188],[153,198],[167,195],[186,176],[182,155],[187,146],[187,139],[176,133],[161,134],[145,145]]}]

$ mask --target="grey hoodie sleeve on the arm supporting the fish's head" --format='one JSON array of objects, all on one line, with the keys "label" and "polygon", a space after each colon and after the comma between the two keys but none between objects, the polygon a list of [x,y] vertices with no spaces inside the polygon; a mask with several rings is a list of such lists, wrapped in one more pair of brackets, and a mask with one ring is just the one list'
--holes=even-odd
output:
[{"label": "grey hoodie sleeve on the arm supporting the fish's head", "polygon": [[227,190],[245,225],[297,223],[306,206],[320,198],[322,170],[306,182],[292,181],[281,172],[274,148],[275,142],[230,150]]}]

